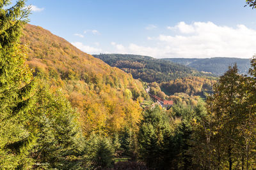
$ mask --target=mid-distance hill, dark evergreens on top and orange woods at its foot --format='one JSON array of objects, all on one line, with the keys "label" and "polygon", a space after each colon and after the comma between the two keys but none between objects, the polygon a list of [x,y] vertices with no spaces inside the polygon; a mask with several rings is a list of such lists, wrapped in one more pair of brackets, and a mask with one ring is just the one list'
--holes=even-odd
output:
[{"label": "mid-distance hill, dark evergreens on top and orange woods at its foot", "polygon": [[104,60],[110,66],[131,73],[134,78],[146,81],[150,87],[150,94],[175,103],[195,106],[200,97],[206,97],[205,92],[212,93],[212,85],[216,81],[212,74],[198,72],[191,67],[152,57],[128,54],[94,56]]}]

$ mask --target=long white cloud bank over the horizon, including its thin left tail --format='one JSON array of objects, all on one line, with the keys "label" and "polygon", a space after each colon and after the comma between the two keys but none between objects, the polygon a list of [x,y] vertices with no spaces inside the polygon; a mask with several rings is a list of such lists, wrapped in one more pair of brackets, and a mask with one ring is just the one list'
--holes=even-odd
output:
[{"label": "long white cloud bank over the horizon, including its thin left tail", "polygon": [[[154,46],[113,43],[118,52],[138,53],[152,57],[241,57],[256,53],[256,30],[245,25],[227,27],[212,22],[194,22],[170,27],[172,34],[160,34],[151,39]],[[169,28],[169,29],[170,29]],[[174,34],[174,35],[173,35]]]}]

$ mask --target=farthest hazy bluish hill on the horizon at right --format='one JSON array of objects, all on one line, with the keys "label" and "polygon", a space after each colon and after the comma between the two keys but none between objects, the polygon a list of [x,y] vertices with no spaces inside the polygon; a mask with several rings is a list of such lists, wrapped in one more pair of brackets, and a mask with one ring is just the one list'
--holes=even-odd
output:
[{"label": "farthest hazy bluish hill on the horizon at right", "polygon": [[250,59],[239,59],[229,57],[213,57],[210,59],[184,59],[184,58],[170,58],[162,59],[168,60],[179,64],[184,64],[193,67],[198,71],[210,72],[220,76],[228,70],[228,66],[236,63],[239,73],[248,74],[250,68]]}]

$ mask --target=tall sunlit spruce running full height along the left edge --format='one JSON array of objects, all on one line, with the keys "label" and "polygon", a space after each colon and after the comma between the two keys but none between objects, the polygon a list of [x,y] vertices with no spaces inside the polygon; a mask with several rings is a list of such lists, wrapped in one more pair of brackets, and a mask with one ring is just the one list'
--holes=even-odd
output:
[{"label": "tall sunlit spruce running full height along the left edge", "polygon": [[22,169],[31,166],[28,151],[35,143],[28,122],[34,85],[24,64],[26,48],[19,45],[29,9],[24,0],[11,4],[0,1],[0,167]]}]

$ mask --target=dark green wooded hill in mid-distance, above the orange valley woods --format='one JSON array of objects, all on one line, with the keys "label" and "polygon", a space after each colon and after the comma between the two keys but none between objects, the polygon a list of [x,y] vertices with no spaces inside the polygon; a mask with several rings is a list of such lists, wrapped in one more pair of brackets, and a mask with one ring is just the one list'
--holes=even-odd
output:
[{"label": "dark green wooded hill in mid-distance, above the orange valley woods", "polygon": [[212,76],[212,74],[202,73],[182,64],[148,56],[116,53],[93,56],[103,60],[109,66],[118,67],[127,73],[131,73],[133,78],[140,78],[148,83],[154,81],[161,83],[188,76]]}]

